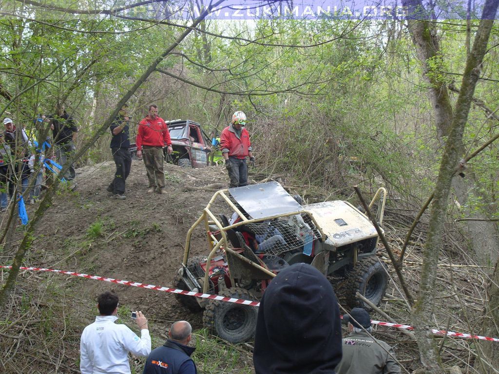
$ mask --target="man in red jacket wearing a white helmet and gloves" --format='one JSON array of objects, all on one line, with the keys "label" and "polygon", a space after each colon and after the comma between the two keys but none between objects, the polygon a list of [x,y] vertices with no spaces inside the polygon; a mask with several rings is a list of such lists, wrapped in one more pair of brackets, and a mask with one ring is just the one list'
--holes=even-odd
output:
[{"label": "man in red jacket wearing a white helmet and gloves", "polygon": [[244,125],[246,125],[246,114],[237,111],[232,116],[232,123],[222,131],[220,137],[220,148],[231,179],[231,188],[248,185],[247,157],[250,157],[251,165],[254,167],[250,134]]}]

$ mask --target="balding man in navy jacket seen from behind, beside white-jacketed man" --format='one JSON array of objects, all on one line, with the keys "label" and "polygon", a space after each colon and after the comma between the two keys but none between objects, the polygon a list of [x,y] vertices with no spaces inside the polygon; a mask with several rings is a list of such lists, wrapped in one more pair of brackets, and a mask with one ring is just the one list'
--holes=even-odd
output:
[{"label": "balding man in navy jacket seen from behind, beside white-jacketed man", "polygon": [[143,374],[197,374],[191,359],[195,348],[187,346],[191,333],[189,322],[175,322],[168,333],[170,339],[149,354]]}]

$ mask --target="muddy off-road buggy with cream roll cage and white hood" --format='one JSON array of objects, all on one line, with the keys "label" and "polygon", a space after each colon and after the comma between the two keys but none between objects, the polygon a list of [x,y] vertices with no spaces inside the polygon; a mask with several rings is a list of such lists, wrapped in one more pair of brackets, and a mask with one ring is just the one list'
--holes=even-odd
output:
[{"label": "muddy off-road buggy with cream roll cage and white hood", "polygon": [[[375,305],[387,287],[387,271],[378,260],[378,234],[372,222],[346,201],[301,205],[275,182],[217,191],[189,229],[184,259],[173,286],[182,290],[259,300],[283,268],[305,262],[341,289],[350,307],[366,307],[356,291]],[[371,201],[379,224],[386,190]],[[193,241],[205,238],[205,256],[189,257]],[[339,295],[341,296],[341,295]],[[253,337],[257,308],[176,294],[221,338],[243,342]]]}]

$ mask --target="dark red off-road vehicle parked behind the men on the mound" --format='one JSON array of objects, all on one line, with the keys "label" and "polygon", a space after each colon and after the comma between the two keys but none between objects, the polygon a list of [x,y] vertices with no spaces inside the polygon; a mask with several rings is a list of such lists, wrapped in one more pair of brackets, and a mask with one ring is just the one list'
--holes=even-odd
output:
[{"label": "dark red off-road vehicle parked behind the men on the mound", "polygon": [[[181,168],[204,168],[208,166],[211,143],[201,125],[191,120],[165,121],[172,140],[173,153],[163,148],[165,161]],[[137,153],[137,145],[130,145],[132,157]]]}]

